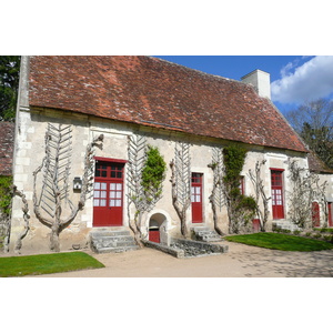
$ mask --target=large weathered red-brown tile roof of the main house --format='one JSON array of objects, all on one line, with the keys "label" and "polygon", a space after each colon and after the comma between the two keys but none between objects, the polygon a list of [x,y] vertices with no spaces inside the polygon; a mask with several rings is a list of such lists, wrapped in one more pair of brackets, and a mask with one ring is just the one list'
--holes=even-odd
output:
[{"label": "large weathered red-brown tile roof of the main house", "polygon": [[306,151],[251,85],[151,57],[32,57],[30,105]]}]

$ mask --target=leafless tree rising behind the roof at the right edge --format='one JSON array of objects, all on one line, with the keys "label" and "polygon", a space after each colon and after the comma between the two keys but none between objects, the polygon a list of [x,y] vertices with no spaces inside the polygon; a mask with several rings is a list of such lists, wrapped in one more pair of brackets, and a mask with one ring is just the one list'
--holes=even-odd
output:
[{"label": "leafless tree rising behind the roof at the right edge", "polygon": [[333,101],[304,103],[290,111],[286,119],[309,148],[333,169]]}]

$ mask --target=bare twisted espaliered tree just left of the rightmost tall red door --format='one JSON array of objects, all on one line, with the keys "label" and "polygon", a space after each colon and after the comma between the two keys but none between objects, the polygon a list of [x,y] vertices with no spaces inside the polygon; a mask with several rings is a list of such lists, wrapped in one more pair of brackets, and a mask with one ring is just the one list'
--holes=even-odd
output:
[{"label": "bare twisted espaliered tree just left of the rightmost tall red door", "polygon": [[[265,160],[256,161],[254,171],[251,169],[249,170],[250,180],[253,184],[255,191],[255,202],[256,202],[256,215],[259,216],[260,221],[260,231],[266,231],[266,223],[269,220],[269,201],[271,198],[268,198],[265,193],[265,188],[263,184],[263,179],[261,176],[261,168],[266,163]],[[260,209],[260,202],[262,203],[263,211]]]}]

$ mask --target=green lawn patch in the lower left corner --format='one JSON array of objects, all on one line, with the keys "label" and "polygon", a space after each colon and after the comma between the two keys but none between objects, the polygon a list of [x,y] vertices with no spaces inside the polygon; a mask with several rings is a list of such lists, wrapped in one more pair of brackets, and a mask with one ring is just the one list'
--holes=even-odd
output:
[{"label": "green lawn patch in the lower left corner", "polygon": [[84,252],[0,258],[0,276],[23,276],[104,268]]}]

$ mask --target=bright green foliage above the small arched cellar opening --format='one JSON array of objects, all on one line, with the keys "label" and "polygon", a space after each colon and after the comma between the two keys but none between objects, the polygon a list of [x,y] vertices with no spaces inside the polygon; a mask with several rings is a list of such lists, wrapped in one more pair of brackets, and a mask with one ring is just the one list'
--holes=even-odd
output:
[{"label": "bright green foliage above the small arched cellar opening", "polygon": [[143,193],[148,202],[152,202],[162,194],[162,183],[165,179],[167,163],[158,148],[148,147],[145,163],[142,170]]}]

